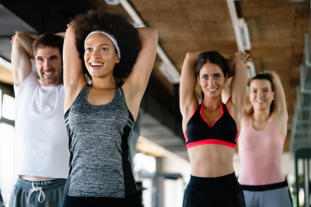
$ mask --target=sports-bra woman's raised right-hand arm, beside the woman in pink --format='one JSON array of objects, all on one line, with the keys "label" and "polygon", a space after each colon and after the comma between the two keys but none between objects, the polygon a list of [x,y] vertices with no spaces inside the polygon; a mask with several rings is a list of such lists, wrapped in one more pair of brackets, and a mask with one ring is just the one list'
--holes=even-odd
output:
[{"label": "sports-bra woman's raised right-hand arm, beside the woman in pink", "polygon": [[[233,55],[233,58],[228,62],[228,66],[232,69],[232,81],[230,86],[230,98],[227,106],[232,114],[240,119],[245,110],[246,86],[247,86],[247,65],[246,59],[249,54],[246,52],[238,52]],[[234,114],[233,114],[234,115]]]}]

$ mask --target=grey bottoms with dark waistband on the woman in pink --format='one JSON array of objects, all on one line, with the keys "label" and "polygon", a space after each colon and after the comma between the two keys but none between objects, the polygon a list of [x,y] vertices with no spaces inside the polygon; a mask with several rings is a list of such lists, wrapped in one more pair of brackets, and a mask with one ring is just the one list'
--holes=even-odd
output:
[{"label": "grey bottoms with dark waistband on the woman in pink", "polygon": [[286,181],[262,186],[240,186],[243,189],[246,207],[293,207]]}]

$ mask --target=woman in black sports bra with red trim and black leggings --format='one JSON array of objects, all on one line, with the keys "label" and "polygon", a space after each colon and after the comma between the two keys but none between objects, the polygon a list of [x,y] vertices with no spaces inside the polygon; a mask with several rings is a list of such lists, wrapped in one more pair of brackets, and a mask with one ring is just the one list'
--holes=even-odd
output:
[{"label": "woman in black sports bra with red trim and black leggings", "polygon": [[[183,207],[244,207],[233,169],[233,154],[245,108],[246,52],[229,61],[216,51],[187,53],[180,79],[180,112],[191,165]],[[233,76],[231,97],[222,90]],[[197,98],[196,84],[201,88]]]}]

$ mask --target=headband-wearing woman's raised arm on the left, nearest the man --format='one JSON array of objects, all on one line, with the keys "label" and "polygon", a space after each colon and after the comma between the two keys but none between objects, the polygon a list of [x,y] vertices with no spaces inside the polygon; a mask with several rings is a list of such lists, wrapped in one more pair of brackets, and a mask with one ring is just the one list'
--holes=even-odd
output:
[{"label": "headband-wearing woman's raised arm on the left, nearest the man", "polygon": [[65,112],[71,107],[78,92],[86,84],[82,61],[79,59],[75,42],[75,29],[71,24],[68,24],[63,50]]}]

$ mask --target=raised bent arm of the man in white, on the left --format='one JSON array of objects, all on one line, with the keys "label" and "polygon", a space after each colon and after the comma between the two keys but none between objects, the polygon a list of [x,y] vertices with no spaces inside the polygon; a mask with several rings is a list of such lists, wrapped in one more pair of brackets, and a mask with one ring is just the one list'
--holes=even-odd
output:
[{"label": "raised bent arm of the man in white, on the left", "polygon": [[32,71],[31,60],[33,54],[31,45],[38,35],[16,31],[12,36],[11,64],[14,77],[14,84],[20,85]]}]

